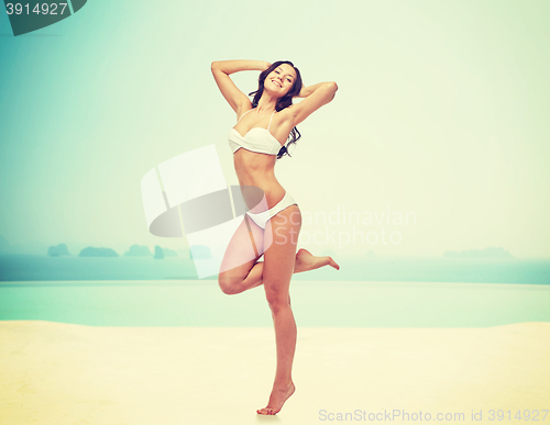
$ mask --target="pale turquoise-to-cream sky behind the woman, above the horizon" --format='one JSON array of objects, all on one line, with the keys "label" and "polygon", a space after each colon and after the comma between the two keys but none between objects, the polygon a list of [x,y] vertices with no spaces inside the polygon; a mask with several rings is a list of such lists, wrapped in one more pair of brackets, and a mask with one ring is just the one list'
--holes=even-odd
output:
[{"label": "pale turquoise-to-cream sky behind the woman, above the horizon", "polygon": [[[339,86],[276,166],[304,214],[302,237],[321,232],[319,244],[304,246],[411,256],[499,246],[550,256],[547,1],[273,5],[89,1],[18,37],[2,12],[0,235],[12,245],[73,242],[120,254],[132,244],[185,248],[185,239],[148,233],[142,177],[216,144],[235,183],[227,144],[235,115],[210,63],[286,59],[306,86]],[[257,75],[232,77],[248,93]],[[353,228],[344,212],[382,223]],[[340,215],[326,225],[316,213]],[[378,241],[342,244],[333,232]],[[383,244],[384,232],[398,243]]]}]

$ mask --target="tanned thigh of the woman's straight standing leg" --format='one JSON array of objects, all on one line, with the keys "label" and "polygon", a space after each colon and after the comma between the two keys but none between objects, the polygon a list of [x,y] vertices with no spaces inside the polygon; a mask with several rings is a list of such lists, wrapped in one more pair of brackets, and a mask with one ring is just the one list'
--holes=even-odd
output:
[{"label": "tanned thigh of the woman's straight standing leg", "polygon": [[300,228],[298,205],[286,208],[267,222],[265,231],[271,234],[272,241],[264,253],[263,283],[268,301],[270,298],[280,297],[284,301],[288,298]]}]

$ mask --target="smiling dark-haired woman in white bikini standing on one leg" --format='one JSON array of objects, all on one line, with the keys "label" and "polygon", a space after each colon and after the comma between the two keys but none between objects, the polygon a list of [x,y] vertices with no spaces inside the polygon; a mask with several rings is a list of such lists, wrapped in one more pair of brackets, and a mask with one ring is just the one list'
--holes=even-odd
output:
[{"label": "smiling dark-haired woman in white bikini standing on one leg", "polygon": [[[301,214],[275,178],[275,161],[287,153],[287,139],[292,144],[299,137],[296,125],[330,102],[338,86],[331,81],[305,87],[290,61],[221,60],[213,61],[211,70],[237,112],[238,123],[230,130],[229,144],[249,210],[227,248],[219,284],[228,294],[264,286],[275,325],[277,369],[267,406],[256,412],[274,415],[295,391],[292,367],[296,323],[290,309],[290,277],[322,266],[340,268],[330,257],[315,257],[306,249],[296,253]],[[229,77],[243,70],[262,71],[252,102]],[[293,105],[294,97],[305,99]],[[257,202],[260,199],[262,202]],[[258,261],[262,255],[264,261]]]}]

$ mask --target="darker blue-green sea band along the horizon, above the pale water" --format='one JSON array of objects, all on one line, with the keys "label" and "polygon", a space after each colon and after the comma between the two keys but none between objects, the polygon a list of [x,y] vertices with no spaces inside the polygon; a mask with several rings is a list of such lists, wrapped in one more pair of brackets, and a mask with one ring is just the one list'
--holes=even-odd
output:
[{"label": "darker blue-green sea band along the horizon, above the pale water", "polygon": [[[322,268],[298,273],[293,279],[550,284],[550,259],[365,257],[337,260],[341,266],[339,271]],[[193,260],[182,257],[0,256],[0,281],[164,279],[198,277]]]}]

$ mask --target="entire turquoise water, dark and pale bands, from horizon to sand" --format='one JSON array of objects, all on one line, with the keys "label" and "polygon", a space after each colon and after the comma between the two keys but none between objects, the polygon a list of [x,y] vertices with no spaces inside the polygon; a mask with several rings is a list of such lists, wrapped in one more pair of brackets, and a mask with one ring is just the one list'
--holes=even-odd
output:
[{"label": "entire turquoise water, dark and pale bands, from horizon to sand", "polygon": [[[295,275],[298,327],[550,322],[548,260],[367,258]],[[178,258],[0,257],[0,320],[94,326],[273,326],[263,287],[223,294]]]}]

